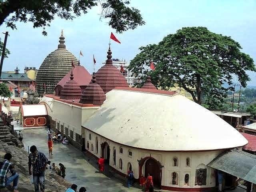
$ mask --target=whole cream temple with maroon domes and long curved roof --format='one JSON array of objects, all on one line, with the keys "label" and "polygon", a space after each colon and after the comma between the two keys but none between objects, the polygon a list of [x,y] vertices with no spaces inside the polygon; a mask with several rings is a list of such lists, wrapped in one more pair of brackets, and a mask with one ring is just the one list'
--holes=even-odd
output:
[{"label": "whole cream temple with maroon domes and long curved roof", "polygon": [[[208,164],[248,141],[179,92],[158,90],[150,76],[142,88],[129,88],[112,65],[110,48],[107,53],[95,75],[81,66],[70,68],[56,83],[58,91],[40,100],[50,128],[94,158],[103,156],[121,176],[132,168],[136,180],[150,173],[164,190],[214,190],[216,169]],[[32,118],[25,111],[24,118]]]}]

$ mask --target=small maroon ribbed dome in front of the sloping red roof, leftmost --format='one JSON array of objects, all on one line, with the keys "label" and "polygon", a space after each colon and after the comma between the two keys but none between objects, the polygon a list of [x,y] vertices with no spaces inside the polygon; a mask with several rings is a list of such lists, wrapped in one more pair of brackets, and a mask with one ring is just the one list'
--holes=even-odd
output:
[{"label": "small maroon ribbed dome in front of the sloping red roof, leftmost", "polygon": [[70,80],[64,84],[60,94],[61,99],[80,99],[81,88],[78,83],[74,80],[73,73],[71,71]]}]

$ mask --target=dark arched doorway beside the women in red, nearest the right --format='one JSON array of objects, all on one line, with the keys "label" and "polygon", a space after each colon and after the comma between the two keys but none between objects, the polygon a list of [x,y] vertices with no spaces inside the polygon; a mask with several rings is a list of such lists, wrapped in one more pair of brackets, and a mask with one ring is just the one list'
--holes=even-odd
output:
[{"label": "dark arched doorway beside the women in red, nearest the right", "polygon": [[154,186],[160,186],[161,185],[160,168],[159,168],[158,162],[153,158],[149,158],[148,160],[146,160],[146,163],[145,163],[146,178],[148,176],[148,173],[153,177]]}]

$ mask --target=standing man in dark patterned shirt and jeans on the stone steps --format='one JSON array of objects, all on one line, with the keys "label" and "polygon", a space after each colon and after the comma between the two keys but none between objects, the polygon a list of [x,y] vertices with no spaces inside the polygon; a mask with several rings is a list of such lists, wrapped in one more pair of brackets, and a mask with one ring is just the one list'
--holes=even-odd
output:
[{"label": "standing man in dark patterned shirt and jeans on the stone steps", "polygon": [[[33,173],[35,192],[39,192],[39,184],[42,188],[41,192],[44,192],[44,172],[48,159],[34,145],[30,147],[30,152],[28,156],[28,171],[30,175]],[[31,165],[33,166],[33,172],[31,172]]]}]

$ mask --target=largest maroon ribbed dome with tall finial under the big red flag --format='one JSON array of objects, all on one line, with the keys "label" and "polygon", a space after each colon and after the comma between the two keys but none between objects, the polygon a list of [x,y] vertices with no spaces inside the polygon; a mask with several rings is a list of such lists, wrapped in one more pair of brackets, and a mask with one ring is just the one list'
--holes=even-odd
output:
[{"label": "largest maroon ribbed dome with tall finial under the big red flag", "polygon": [[122,73],[113,66],[111,54],[112,52],[109,47],[106,64],[95,73],[97,83],[101,86],[105,94],[115,87],[129,87]]}]

